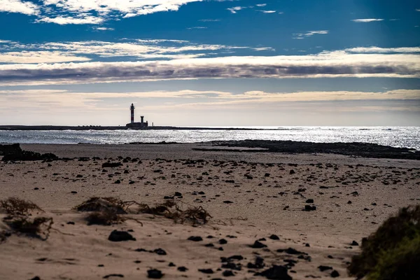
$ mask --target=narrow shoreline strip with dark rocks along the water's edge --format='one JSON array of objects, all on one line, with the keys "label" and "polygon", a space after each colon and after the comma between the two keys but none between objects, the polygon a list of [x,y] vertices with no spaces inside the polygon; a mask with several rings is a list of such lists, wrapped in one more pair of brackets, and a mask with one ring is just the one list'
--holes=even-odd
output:
[{"label": "narrow shoreline strip with dark rocks along the water's edge", "polygon": [[[54,153],[54,150],[99,151],[102,148],[112,148],[119,151],[153,150],[174,151],[182,148],[189,153],[269,153],[279,155],[309,155],[329,154],[356,158],[383,158],[395,160],[420,160],[420,151],[410,148],[395,148],[367,143],[314,143],[302,141],[271,141],[271,140],[241,140],[241,141],[208,141],[197,143],[158,142],[129,144],[21,144],[24,150],[41,153]],[[6,146],[8,146],[6,144]],[[6,147],[5,146],[5,147]],[[120,147],[120,148],[118,148]],[[0,155],[2,154],[0,145]],[[69,155],[59,155],[69,158]],[[91,155],[95,156],[95,155]],[[129,155],[127,155],[129,156]]]}]

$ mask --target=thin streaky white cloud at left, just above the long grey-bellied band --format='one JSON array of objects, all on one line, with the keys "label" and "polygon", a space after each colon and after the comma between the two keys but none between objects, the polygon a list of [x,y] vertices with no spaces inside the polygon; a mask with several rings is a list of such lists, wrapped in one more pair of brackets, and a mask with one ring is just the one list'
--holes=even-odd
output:
[{"label": "thin streaky white cloud at left, just above the long grey-bellied band", "polygon": [[[104,30],[98,27],[99,30]],[[21,44],[4,41],[3,51],[0,55],[12,63],[25,63],[18,52],[34,54],[33,59],[38,63],[83,61],[86,55],[99,57],[130,57],[130,59],[181,59],[210,55],[215,51],[232,51],[248,47],[230,45],[195,44],[189,41],[168,39],[138,39],[136,41],[124,40],[123,42],[82,41],[82,42],[53,42],[42,44]],[[251,48],[248,48],[251,49]],[[15,52],[13,55],[10,52]],[[59,53],[59,57],[57,54]],[[66,57],[64,57],[64,55]],[[214,54],[213,54],[214,55]],[[43,57],[45,60],[42,61]],[[54,57],[57,57],[55,59]],[[72,57],[72,58],[71,58]],[[6,58],[4,58],[6,60]],[[28,61],[31,61],[30,59]],[[34,62],[28,62],[34,63]]]}]

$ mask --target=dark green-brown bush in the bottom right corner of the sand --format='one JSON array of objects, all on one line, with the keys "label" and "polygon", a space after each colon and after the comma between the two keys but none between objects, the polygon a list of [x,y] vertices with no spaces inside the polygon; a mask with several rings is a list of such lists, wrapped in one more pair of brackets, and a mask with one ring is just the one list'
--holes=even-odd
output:
[{"label": "dark green-brown bush in the bottom right corner of the sand", "polygon": [[363,239],[349,274],[368,280],[419,279],[420,205],[404,207]]}]

